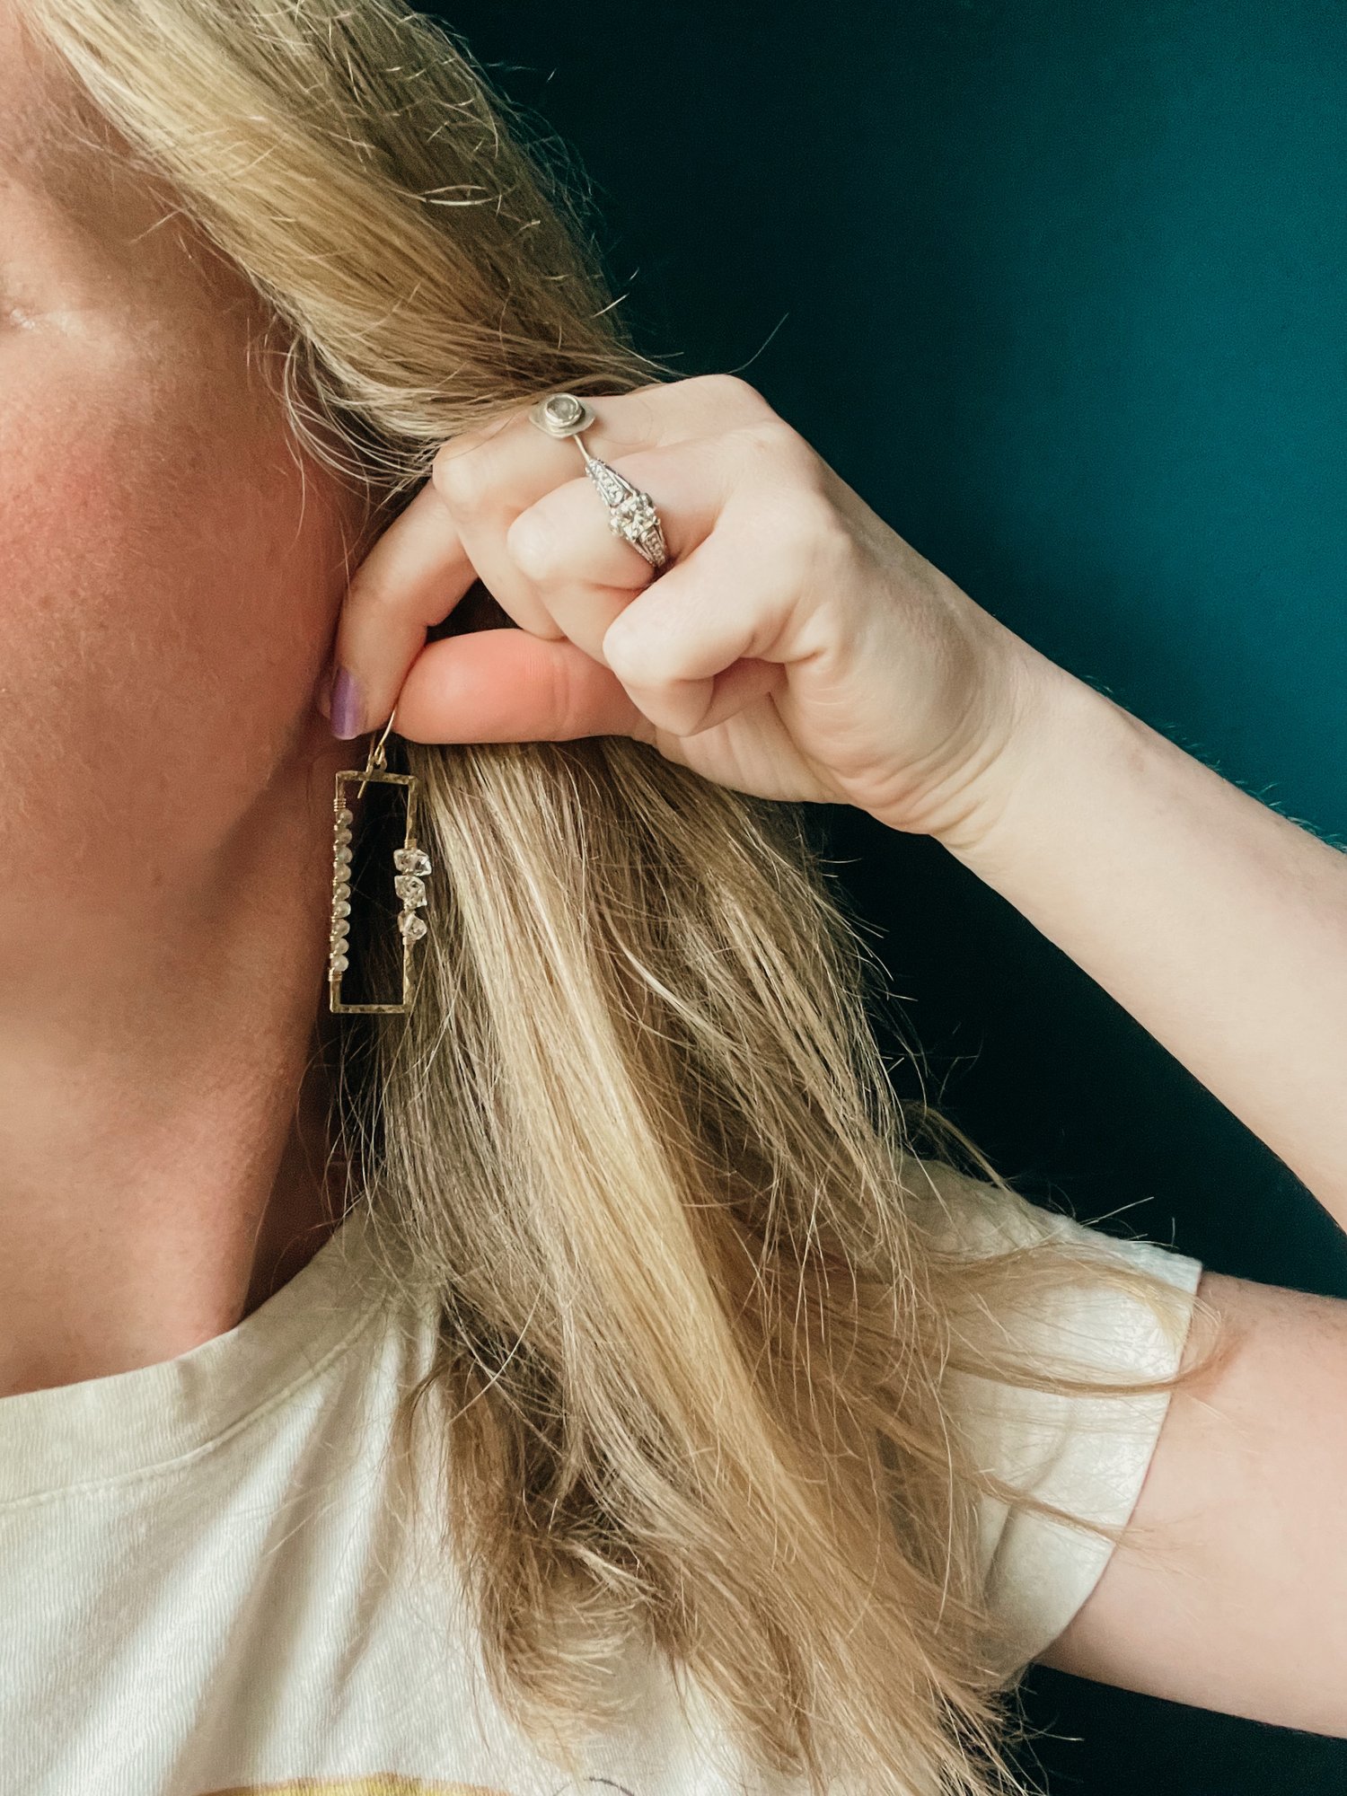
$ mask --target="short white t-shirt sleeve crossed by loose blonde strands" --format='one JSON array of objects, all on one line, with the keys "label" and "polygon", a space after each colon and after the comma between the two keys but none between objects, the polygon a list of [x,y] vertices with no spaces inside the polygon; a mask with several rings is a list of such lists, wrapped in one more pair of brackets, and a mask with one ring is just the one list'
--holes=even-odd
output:
[{"label": "short white t-shirt sleeve crossed by loose blonde strands", "polygon": [[[984,1187],[986,1191],[986,1187]],[[1166,1324],[1149,1304],[1112,1284],[1072,1284],[1033,1313],[997,1316],[1004,1345],[1043,1352],[1070,1376],[1101,1379],[1169,1378],[1184,1356],[1202,1261],[1153,1241],[1110,1236],[1031,1205],[1024,1198],[982,1198],[961,1228],[972,1227],[979,1252],[1060,1236],[1103,1257],[1142,1266],[1175,1288]],[[1122,1525],[1140,1494],[1169,1392],[1060,1395],[950,1374],[959,1421],[984,1471],[1094,1521]],[[1112,1541],[1052,1516],[979,1498],[981,1564],[993,1611],[1004,1616],[1022,1663],[1043,1652],[1099,1582]]]}]

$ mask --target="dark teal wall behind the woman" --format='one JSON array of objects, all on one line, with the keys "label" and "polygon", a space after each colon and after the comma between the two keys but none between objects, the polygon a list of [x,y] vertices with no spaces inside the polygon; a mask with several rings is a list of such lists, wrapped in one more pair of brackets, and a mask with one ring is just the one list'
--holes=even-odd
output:
[{"label": "dark teal wall behind the woman", "polygon": [[[745,374],[1011,629],[1347,841],[1342,0],[445,11],[582,158],[647,348]],[[817,821],[1008,1176],[1347,1295],[1340,1230],[1017,912]],[[1343,1742],[1047,1670],[1026,1708],[1054,1792],[1347,1787]]]}]

